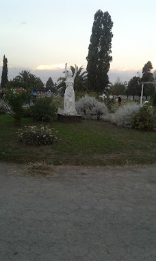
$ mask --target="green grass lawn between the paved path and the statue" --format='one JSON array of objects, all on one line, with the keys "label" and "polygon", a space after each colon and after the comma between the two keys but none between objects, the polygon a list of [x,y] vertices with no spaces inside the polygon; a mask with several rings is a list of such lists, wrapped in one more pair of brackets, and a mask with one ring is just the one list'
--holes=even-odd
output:
[{"label": "green grass lawn between the paved path and the statue", "polygon": [[[23,126],[40,125],[24,118]],[[53,165],[116,166],[156,163],[156,132],[117,128],[107,122],[48,123],[59,141],[51,146],[27,146],[16,141],[13,119],[0,116],[0,161],[47,162]]]}]

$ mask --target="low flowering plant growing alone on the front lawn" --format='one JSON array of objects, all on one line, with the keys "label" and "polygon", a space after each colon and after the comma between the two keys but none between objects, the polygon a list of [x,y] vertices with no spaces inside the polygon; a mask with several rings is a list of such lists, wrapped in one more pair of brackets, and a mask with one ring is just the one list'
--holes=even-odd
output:
[{"label": "low flowering plant growing alone on the front lawn", "polygon": [[18,141],[27,145],[49,145],[57,141],[57,132],[49,126],[25,126],[16,133]]}]

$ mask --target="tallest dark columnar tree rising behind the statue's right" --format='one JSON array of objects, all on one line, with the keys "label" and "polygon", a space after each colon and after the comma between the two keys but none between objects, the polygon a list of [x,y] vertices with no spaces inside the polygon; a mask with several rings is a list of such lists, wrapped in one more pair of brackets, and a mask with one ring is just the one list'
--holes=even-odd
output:
[{"label": "tallest dark columnar tree rising behind the statue's right", "polygon": [[92,35],[88,47],[88,89],[103,92],[109,83],[108,71],[112,61],[113,22],[108,12],[98,10],[94,15]]}]

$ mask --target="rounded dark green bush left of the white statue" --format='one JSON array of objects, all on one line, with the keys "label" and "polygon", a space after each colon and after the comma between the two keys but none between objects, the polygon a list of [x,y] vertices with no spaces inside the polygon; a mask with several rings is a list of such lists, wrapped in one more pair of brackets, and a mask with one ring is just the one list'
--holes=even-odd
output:
[{"label": "rounded dark green bush left of the white statue", "polygon": [[35,120],[50,122],[51,120],[55,120],[56,115],[57,106],[51,98],[39,98],[31,106],[31,116]]}]

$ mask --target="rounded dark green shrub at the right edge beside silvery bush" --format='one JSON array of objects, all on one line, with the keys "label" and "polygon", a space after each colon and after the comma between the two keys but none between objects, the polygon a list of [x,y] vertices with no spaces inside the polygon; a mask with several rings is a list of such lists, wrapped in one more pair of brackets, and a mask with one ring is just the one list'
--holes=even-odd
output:
[{"label": "rounded dark green shrub at the right edge beside silvery bush", "polygon": [[133,128],[140,131],[152,131],[155,128],[156,113],[152,106],[144,105],[132,120]]}]

